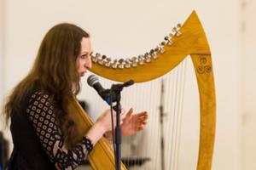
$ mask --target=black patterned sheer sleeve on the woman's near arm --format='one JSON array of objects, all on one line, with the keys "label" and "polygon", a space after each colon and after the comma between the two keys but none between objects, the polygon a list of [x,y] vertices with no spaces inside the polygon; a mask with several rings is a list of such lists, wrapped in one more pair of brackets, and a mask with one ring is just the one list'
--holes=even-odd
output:
[{"label": "black patterned sheer sleeve on the woman's near arm", "polygon": [[26,114],[50,161],[55,163],[57,169],[74,169],[85,160],[88,155],[88,139],[84,137],[73,150],[67,150],[61,138],[60,127],[55,121],[55,108],[48,94],[32,94]]}]

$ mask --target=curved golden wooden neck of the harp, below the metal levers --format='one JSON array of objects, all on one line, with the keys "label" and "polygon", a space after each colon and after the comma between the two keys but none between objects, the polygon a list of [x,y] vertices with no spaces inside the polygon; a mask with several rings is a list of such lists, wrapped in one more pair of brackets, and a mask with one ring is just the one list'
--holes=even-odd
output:
[{"label": "curved golden wooden neck of the harp, below the metal levers", "polygon": [[189,54],[211,54],[207,37],[195,11],[190,14],[179,31],[182,32],[182,36],[172,37],[172,46],[165,46],[166,52],[159,53],[157,59],[146,65],[130,69],[112,69],[94,63],[90,71],[117,82],[125,82],[129,79],[133,79],[134,82],[147,82],[172,71]]}]

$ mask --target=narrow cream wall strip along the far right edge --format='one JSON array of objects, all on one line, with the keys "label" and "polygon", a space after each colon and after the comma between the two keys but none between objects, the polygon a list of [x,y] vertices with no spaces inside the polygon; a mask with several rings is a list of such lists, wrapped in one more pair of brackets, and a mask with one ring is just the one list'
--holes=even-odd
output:
[{"label": "narrow cream wall strip along the far right edge", "polygon": [[256,169],[256,2],[244,0],[241,8],[241,104],[243,114],[243,167]]}]

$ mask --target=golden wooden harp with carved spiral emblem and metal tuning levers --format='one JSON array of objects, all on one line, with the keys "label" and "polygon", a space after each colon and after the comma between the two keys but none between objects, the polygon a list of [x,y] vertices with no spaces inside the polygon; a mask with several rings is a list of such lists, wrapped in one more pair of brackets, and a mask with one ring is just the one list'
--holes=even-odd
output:
[{"label": "golden wooden harp with carved spiral emblem and metal tuning levers", "polygon": [[[177,27],[172,30],[171,36],[165,38],[166,42],[163,42],[161,47],[139,56],[137,59],[111,61],[108,58],[100,58],[101,56],[92,56],[91,71],[117,82],[125,82],[129,79],[133,79],[135,82],[148,82],[172,71],[190,55],[200,98],[200,134],[196,168],[197,170],[210,170],[216,121],[211,52],[195,11],[190,14],[189,19],[182,26]],[[77,136],[79,140],[90,128],[92,122],[76,101],[70,103],[69,109],[72,112],[70,116],[75,120],[77,126],[77,134],[74,136]],[[89,161],[92,169],[115,169],[113,150],[103,138],[90,153]],[[124,164],[121,169],[126,169]]]}]

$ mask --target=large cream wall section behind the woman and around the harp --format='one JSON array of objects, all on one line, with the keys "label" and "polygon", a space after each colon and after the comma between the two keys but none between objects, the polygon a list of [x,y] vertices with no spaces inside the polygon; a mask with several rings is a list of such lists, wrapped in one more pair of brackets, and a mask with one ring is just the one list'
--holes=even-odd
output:
[{"label": "large cream wall section behind the woman and around the harp", "polygon": [[[217,136],[212,169],[245,169],[241,167],[238,0],[78,0],[75,3],[6,0],[4,3],[5,94],[26,75],[45,32],[59,22],[82,26],[90,32],[97,52],[118,58],[141,54],[154,47],[172,26],[186,20],[195,9],[212,49],[217,90]],[[85,93],[81,96],[87,99]]]}]

